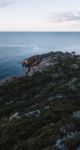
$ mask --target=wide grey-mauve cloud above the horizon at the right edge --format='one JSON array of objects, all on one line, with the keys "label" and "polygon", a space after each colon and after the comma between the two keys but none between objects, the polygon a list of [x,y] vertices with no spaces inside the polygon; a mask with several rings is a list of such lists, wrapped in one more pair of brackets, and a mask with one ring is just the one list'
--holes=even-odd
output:
[{"label": "wide grey-mauve cloud above the horizon at the right edge", "polygon": [[49,13],[47,20],[51,23],[80,23],[80,11]]}]

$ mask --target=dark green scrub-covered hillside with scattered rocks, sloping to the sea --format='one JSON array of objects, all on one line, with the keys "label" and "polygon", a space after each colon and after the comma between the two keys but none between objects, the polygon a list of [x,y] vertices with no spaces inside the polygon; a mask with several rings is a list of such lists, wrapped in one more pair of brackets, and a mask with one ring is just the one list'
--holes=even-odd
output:
[{"label": "dark green scrub-covered hillside with scattered rocks, sloping to the sea", "polygon": [[25,59],[25,76],[0,85],[0,150],[80,150],[80,56]]}]

